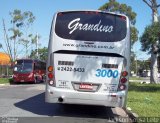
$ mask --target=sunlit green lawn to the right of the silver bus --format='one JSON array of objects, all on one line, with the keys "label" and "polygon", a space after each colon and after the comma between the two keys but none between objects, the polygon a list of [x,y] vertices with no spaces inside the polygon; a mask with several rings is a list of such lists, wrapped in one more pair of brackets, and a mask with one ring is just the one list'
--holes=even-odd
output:
[{"label": "sunlit green lawn to the right of the silver bus", "polygon": [[127,107],[139,117],[160,117],[160,84],[130,83]]}]

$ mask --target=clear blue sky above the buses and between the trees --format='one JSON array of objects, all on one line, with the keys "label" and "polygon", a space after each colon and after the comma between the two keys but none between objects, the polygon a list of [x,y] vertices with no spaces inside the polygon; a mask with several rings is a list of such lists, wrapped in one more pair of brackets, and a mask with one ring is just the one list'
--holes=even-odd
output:
[{"label": "clear blue sky above the buses and between the trees", "polygon": [[[48,47],[49,33],[53,15],[57,11],[64,10],[96,10],[109,0],[0,0],[0,43],[4,43],[4,31],[2,19],[5,20],[6,29],[11,28],[9,12],[19,9],[22,12],[31,11],[36,17],[32,26],[32,33],[41,36],[39,47]],[[136,28],[139,31],[139,36],[142,35],[145,27],[151,24],[152,13],[151,9],[143,2],[143,0],[117,0],[119,3],[125,3],[131,6],[133,11],[137,13]],[[157,0],[160,3],[160,0]],[[160,13],[160,9],[159,9]],[[133,51],[137,55],[137,59],[146,60],[150,57],[147,53],[140,50],[141,44],[137,41],[133,46]],[[0,49],[0,52],[3,52]],[[20,52],[21,56],[24,52]]]}]

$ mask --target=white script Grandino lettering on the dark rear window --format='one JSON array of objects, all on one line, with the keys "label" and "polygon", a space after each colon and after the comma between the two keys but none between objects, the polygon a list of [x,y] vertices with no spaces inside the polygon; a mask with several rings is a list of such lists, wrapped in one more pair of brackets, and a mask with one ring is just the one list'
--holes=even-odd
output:
[{"label": "white script Grandino lettering on the dark rear window", "polygon": [[97,24],[89,24],[89,23],[82,24],[80,23],[80,20],[81,20],[80,18],[76,18],[68,24],[68,29],[70,30],[69,34],[72,34],[76,30],[97,31],[106,33],[111,33],[113,31],[112,25],[110,26],[102,25],[101,20]]}]

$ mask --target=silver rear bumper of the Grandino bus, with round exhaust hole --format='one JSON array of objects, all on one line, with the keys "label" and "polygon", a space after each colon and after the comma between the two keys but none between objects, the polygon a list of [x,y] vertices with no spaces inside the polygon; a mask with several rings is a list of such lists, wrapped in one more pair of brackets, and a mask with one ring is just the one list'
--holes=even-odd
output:
[{"label": "silver rear bumper of the Grandino bus, with round exhaust hole", "polygon": [[[48,103],[100,105],[106,107],[124,107],[126,92],[99,93],[78,92],[75,90],[59,89],[48,86],[45,93],[45,101]],[[113,97],[112,95],[116,95]],[[63,101],[60,102],[59,98]]]}]

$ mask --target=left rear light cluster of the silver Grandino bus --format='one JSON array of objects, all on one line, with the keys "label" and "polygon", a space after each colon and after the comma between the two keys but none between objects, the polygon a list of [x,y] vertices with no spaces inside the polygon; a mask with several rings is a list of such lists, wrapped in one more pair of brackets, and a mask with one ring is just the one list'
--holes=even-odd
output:
[{"label": "left rear light cluster of the silver Grandino bus", "polygon": [[48,83],[49,85],[54,86],[54,75],[53,75],[53,66],[48,67]]}]

